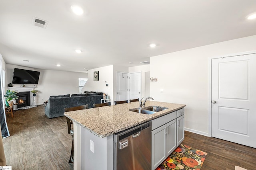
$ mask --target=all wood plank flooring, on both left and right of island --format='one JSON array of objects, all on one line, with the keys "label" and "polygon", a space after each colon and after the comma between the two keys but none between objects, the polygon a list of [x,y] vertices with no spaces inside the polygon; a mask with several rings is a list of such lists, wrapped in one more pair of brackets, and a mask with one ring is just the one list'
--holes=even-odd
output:
[{"label": "all wood plank flooring, on both left and right of island", "polygon": [[[11,136],[3,139],[4,151],[12,170],[73,169],[66,117],[49,119],[42,106],[18,110],[14,119],[6,117]],[[182,143],[208,153],[201,170],[234,170],[236,165],[256,169],[255,148],[188,131]]]}]

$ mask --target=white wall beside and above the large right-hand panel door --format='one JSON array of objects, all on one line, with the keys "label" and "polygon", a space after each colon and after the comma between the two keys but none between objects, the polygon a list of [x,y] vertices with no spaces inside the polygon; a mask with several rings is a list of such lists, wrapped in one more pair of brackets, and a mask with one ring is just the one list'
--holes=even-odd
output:
[{"label": "white wall beside and above the large right-hand panel door", "polygon": [[150,77],[158,78],[150,84],[150,96],[186,104],[185,128],[208,135],[209,59],[255,50],[256,35],[150,57]]}]

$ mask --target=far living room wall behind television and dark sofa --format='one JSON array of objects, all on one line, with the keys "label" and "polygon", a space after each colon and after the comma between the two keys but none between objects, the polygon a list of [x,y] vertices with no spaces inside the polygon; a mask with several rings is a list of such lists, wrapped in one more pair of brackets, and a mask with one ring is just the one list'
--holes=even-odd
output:
[{"label": "far living room wall behind television and dark sofa", "polygon": [[[54,95],[78,94],[78,78],[88,77],[87,73],[43,70],[6,64],[7,84],[12,82],[14,68],[40,71],[38,85],[36,85],[35,88],[39,90],[36,94],[36,104],[42,104],[45,100],[48,100],[50,96]],[[20,86],[21,84],[13,85]],[[33,84],[26,84],[26,86],[33,86]]]}]

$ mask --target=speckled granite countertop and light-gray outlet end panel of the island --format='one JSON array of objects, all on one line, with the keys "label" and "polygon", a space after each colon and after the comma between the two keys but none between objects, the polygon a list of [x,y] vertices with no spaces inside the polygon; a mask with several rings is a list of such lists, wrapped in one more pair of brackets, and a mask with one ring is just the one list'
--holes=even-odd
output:
[{"label": "speckled granite countertop and light-gray outlet end panel of the island", "polygon": [[145,107],[160,106],[168,109],[151,115],[129,111],[139,102],[96,107],[65,112],[74,123],[74,170],[113,170],[113,134],[156,119],[184,104],[147,101]]}]

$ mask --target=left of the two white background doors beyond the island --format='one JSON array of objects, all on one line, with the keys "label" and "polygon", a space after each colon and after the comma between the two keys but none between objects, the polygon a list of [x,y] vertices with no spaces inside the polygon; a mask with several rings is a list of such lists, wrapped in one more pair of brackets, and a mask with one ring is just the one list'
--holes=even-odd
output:
[{"label": "left of the two white background doors beyond the island", "polygon": [[116,73],[116,101],[128,100],[128,76],[127,73]]}]

